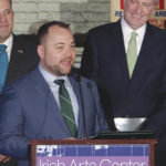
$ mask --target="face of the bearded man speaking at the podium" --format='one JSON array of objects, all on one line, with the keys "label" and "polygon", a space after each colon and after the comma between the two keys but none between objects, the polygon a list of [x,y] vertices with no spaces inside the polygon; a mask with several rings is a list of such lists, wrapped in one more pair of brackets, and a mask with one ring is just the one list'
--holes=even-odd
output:
[{"label": "face of the bearded man speaking at the podium", "polygon": [[38,53],[41,65],[55,76],[66,75],[75,59],[75,42],[70,30],[52,25],[45,34]]}]

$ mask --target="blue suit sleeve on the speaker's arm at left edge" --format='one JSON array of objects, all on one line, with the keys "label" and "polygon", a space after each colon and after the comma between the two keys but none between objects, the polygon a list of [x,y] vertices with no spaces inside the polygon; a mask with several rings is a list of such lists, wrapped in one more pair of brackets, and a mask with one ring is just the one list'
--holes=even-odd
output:
[{"label": "blue suit sleeve on the speaker's arm at left edge", "polygon": [[0,154],[27,158],[28,141],[23,137],[23,113],[19,94],[7,86],[0,98]]}]

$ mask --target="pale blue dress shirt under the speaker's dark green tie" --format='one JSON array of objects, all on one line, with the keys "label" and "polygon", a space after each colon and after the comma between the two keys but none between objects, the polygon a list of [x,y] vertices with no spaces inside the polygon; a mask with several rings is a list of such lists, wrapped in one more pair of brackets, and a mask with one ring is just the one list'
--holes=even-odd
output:
[{"label": "pale blue dress shirt under the speaker's dark green tie", "polygon": [[73,113],[74,113],[74,117],[75,117],[75,123],[77,126],[77,118],[79,118],[79,104],[77,104],[77,100],[76,100],[76,95],[74,93],[74,90],[70,83],[70,80],[68,76],[54,76],[53,74],[51,74],[50,72],[45,71],[41,64],[39,64],[39,71],[41,72],[41,74],[43,75],[43,77],[45,79],[45,81],[48,82],[50,90],[59,105],[60,106],[60,100],[59,100],[59,85],[54,83],[55,80],[61,80],[63,79],[65,89],[69,92],[69,95],[71,97],[71,102],[72,102],[72,107],[73,107]]}]

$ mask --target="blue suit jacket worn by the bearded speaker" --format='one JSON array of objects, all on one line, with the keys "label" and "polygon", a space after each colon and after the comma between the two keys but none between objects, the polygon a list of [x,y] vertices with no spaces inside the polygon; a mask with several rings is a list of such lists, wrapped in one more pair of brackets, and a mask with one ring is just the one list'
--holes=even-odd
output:
[{"label": "blue suit jacket worn by the bearded speaker", "polygon": [[[77,138],[84,136],[79,83],[69,76],[79,102]],[[106,129],[95,84],[82,77],[87,137]],[[50,87],[38,69],[4,87],[0,100],[0,153],[28,166],[28,141],[71,137]]]}]

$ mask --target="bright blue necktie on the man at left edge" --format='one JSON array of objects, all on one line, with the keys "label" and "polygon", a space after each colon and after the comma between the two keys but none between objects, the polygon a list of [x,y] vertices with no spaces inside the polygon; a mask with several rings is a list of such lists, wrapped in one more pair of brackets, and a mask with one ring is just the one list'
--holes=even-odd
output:
[{"label": "bright blue necktie on the man at left edge", "polygon": [[7,49],[7,45],[0,44],[0,93],[6,83],[8,64],[9,64],[6,49]]}]

